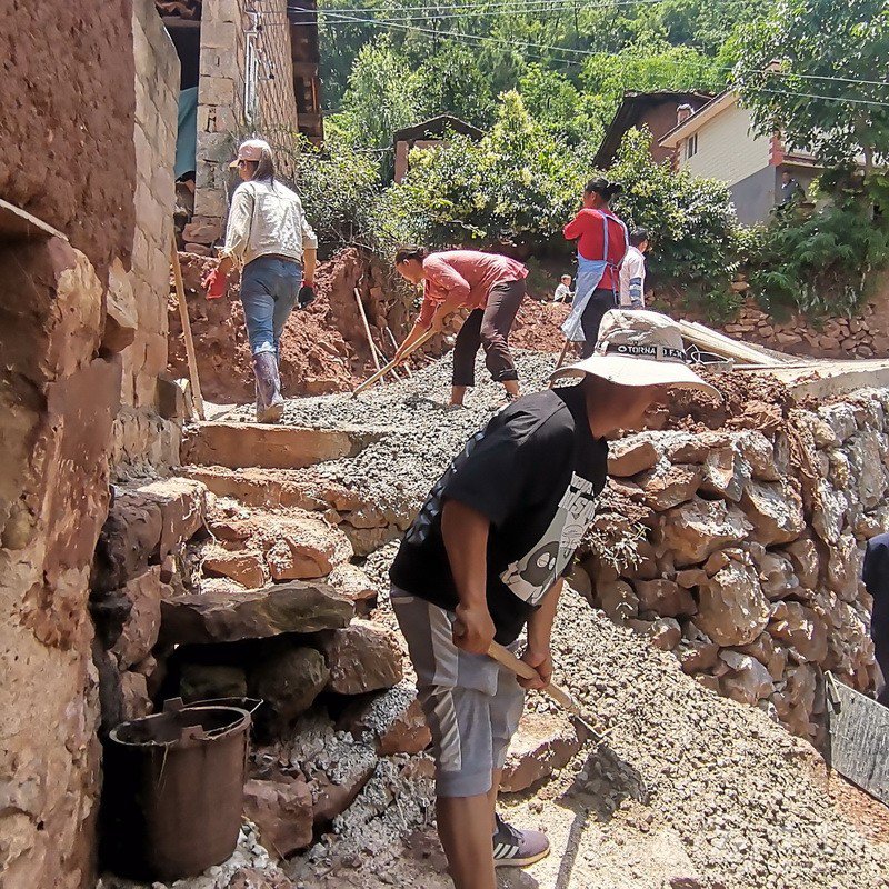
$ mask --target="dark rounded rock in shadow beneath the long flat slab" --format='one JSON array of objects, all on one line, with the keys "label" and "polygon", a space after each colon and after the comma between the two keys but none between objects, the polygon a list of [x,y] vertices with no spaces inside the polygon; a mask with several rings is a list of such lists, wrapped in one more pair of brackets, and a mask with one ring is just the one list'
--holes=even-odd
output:
[{"label": "dark rounded rock in shadow beneath the long flat slab", "polygon": [[278,716],[289,722],[306,712],[330,678],[324,657],[313,648],[290,643],[272,646],[248,677],[253,697],[261,698]]}]

